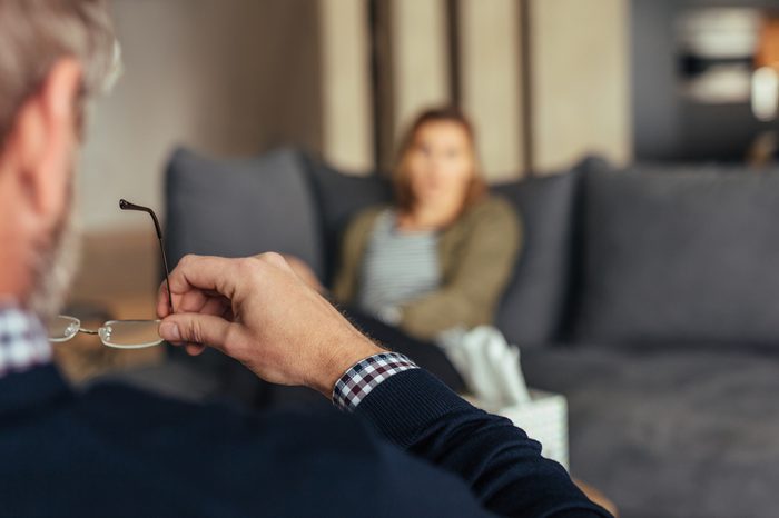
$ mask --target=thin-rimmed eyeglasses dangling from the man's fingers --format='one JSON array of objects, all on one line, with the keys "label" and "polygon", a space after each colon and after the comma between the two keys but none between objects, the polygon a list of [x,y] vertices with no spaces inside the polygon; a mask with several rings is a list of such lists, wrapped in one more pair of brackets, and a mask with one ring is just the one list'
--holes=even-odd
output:
[{"label": "thin-rimmed eyeglasses dangling from the man's fingers", "polygon": [[[165,267],[165,285],[168,288],[168,305],[170,312],[174,310],[174,300],[170,295],[170,279],[168,271],[168,259],[165,257],[165,246],[162,245],[162,230],[159,226],[159,220],[155,211],[148,207],[130,203],[126,200],[119,200],[121,210],[138,210],[148,212],[155,223],[157,230],[157,239],[159,241],[159,251],[162,255],[162,266]],[[86,335],[97,335],[102,343],[107,347],[116,349],[141,349],[144,347],[152,347],[162,343],[159,336],[159,320],[109,320],[98,329],[83,329],[81,321],[76,317],[60,315],[51,319],[49,322],[49,341],[62,342],[73,338],[79,332]]]}]

